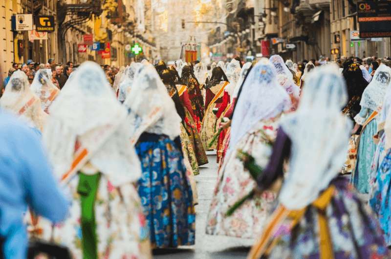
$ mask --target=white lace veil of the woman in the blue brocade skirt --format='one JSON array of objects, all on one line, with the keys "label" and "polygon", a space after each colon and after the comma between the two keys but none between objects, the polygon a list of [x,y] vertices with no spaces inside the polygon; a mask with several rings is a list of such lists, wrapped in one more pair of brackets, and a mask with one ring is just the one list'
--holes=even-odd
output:
[{"label": "white lace veil of the woman in the blue brocade skirt", "polygon": [[136,72],[133,86],[124,105],[130,109],[131,142],[144,132],[165,134],[172,140],[180,134],[181,118],[153,65],[143,65]]}]

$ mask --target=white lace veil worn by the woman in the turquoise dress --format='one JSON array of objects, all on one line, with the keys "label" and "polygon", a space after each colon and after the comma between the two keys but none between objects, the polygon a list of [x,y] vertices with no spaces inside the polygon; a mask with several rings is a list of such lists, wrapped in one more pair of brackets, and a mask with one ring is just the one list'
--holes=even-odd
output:
[{"label": "white lace veil worn by the woman in the turquoise dress", "polygon": [[387,65],[379,65],[367,88],[365,88],[360,101],[361,108],[377,110],[383,105],[383,99],[387,88],[390,86],[391,68]]}]

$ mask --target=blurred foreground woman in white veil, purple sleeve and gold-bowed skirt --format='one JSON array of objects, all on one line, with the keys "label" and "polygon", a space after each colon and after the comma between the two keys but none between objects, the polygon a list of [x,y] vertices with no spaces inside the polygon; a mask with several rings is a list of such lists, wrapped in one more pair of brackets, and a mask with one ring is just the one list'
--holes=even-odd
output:
[{"label": "blurred foreground woman in white veil, purple sleeve and gold-bowed skirt", "polygon": [[[248,259],[386,259],[390,251],[378,223],[338,172],[351,122],[341,114],[345,82],[336,65],[308,75],[296,112],[284,117],[259,191],[283,177],[279,206]],[[322,133],[327,132],[327,133]]]}]

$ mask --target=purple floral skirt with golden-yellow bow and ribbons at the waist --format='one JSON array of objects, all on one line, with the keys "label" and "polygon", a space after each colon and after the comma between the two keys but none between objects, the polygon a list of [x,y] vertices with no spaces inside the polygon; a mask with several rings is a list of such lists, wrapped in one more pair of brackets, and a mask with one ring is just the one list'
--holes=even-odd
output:
[{"label": "purple floral skirt with golden-yellow bow and ribbons at the waist", "polygon": [[[263,251],[262,259],[390,258],[377,220],[348,181],[337,178],[330,187],[319,196],[322,201],[304,209],[303,216],[299,216],[299,211],[291,211],[278,220],[283,210],[279,206],[268,225],[273,229],[263,233],[248,258],[258,259],[253,253],[257,249]],[[325,200],[328,202],[324,203]],[[295,220],[298,223],[293,223]],[[270,238],[265,242],[268,246],[262,246],[266,237]]]}]

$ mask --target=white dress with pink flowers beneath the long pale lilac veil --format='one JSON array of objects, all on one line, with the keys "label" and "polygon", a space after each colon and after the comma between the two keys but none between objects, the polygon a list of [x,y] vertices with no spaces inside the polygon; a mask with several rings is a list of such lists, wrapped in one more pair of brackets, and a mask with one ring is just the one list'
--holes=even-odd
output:
[{"label": "white dress with pink flowers beneath the long pale lilac veil", "polygon": [[[275,206],[276,194],[265,191],[255,195],[239,207],[232,216],[226,216],[228,209],[257,186],[236,151],[242,150],[256,158],[264,167],[269,160],[272,147],[269,140],[276,137],[277,119],[258,122],[237,144],[234,151],[225,157],[218,175],[217,186],[207,217],[206,233],[231,237],[257,238]],[[267,138],[267,139],[266,139]]]}]

